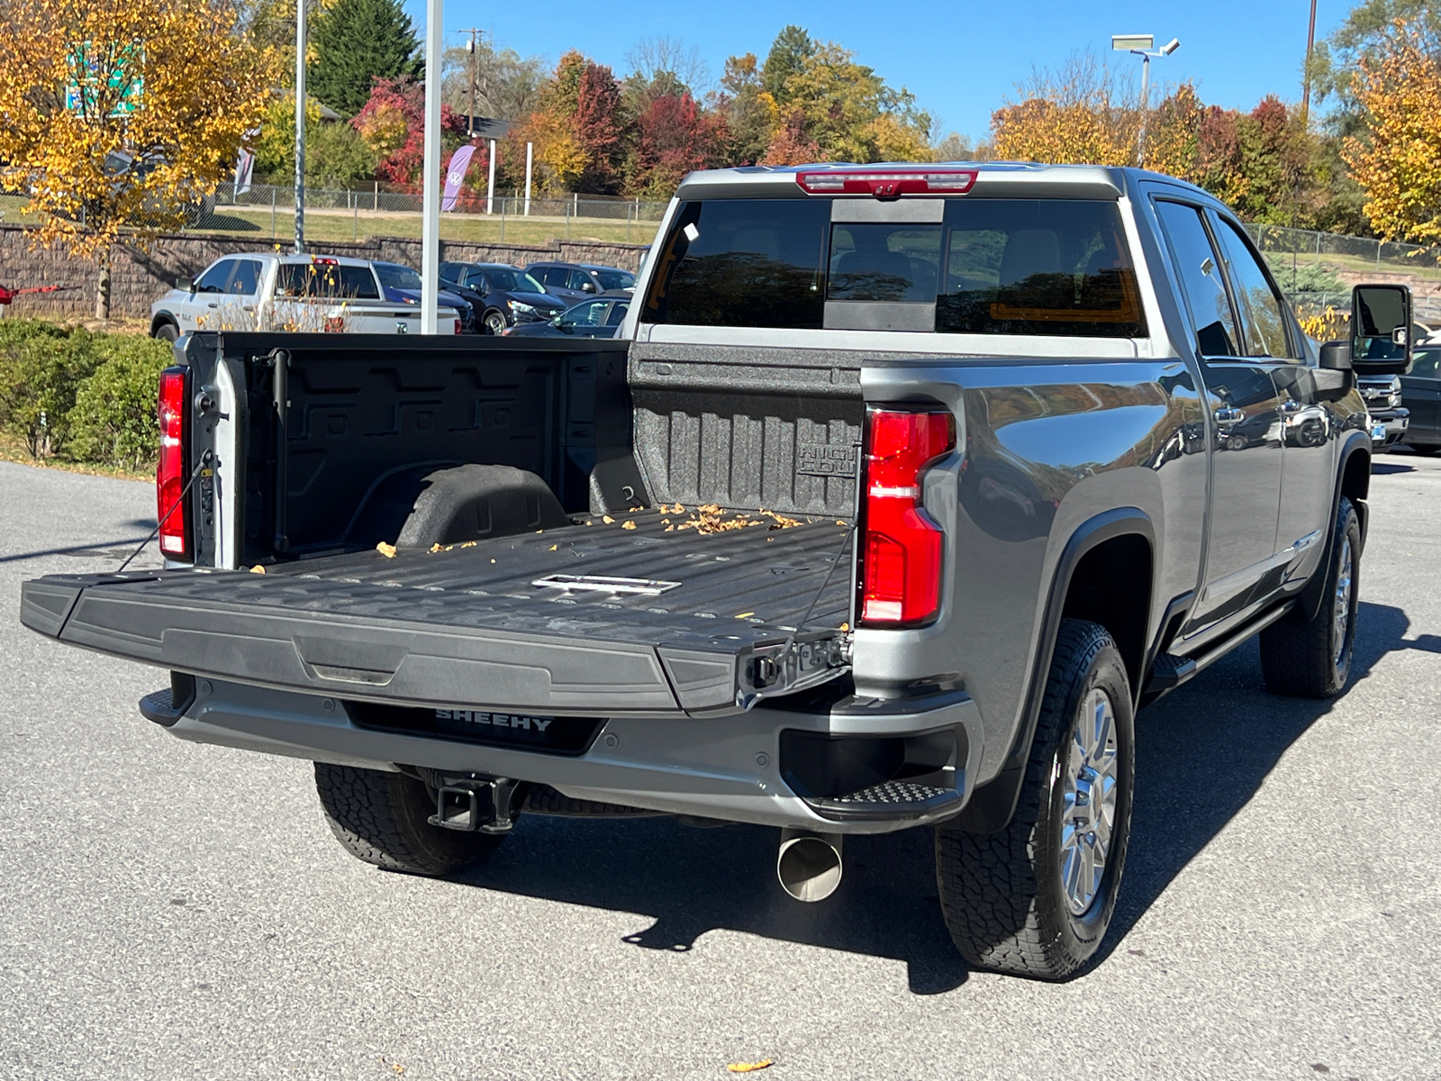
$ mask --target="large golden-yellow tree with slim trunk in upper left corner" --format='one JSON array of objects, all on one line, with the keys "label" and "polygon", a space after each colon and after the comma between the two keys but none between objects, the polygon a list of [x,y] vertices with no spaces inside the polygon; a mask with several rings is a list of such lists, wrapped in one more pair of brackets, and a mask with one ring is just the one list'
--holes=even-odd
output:
[{"label": "large golden-yellow tree with slim trunk in upper left corner", "polygon": [[0,189],[29,196],[40,244],[98,264],[121,228],[182,225],[271,98],[271,53],[229,0],[7,0]]}]

